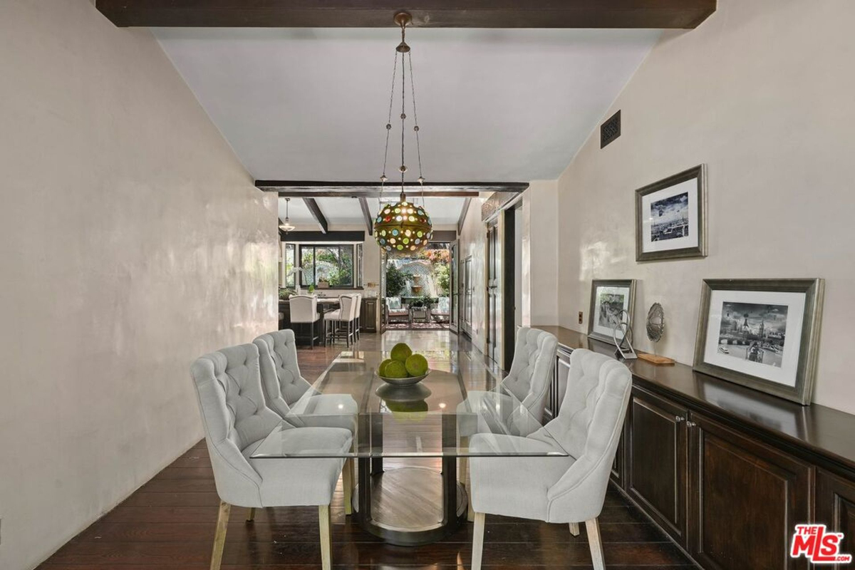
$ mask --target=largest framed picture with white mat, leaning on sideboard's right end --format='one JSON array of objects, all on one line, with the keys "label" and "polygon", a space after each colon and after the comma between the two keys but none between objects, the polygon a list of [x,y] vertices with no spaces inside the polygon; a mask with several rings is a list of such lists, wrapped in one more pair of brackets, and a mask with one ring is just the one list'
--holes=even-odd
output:
[{"label": "largest framed picture with white mat, leaning on sideboard's right end", "polygon": [[811,403],[823,279],[705,279],[694,369]]}]

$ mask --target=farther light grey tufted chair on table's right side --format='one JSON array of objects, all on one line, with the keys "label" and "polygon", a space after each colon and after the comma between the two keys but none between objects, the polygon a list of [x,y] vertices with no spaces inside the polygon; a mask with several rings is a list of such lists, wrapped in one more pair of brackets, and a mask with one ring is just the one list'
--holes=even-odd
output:
[{"label": "farther light grey tufted chair on table's right side", "polygon": [[[529,431],[540,427],[557,346],[555,335],[528,326],[520,327],[516,332],[514,361],[510,364],[510,372],[502,380],[503,390],[513,397],[497,391],[467,392],[466,399],[457,405],[457,433],[462,447],[467,445],[468,438],[475,433],[489,431],[479,426],[479,422],[487,417],[485,412],[493,414],[494,409],[502,414],[497,422],[513,424],[519,435],[528,435]],[[516,410],[517,402],[522,403],[525,412]],[[516,417],[510,417],[510,414]],[[467,485],[467,461],[466,457],[460,458],[460,480],[464,486]]]}]

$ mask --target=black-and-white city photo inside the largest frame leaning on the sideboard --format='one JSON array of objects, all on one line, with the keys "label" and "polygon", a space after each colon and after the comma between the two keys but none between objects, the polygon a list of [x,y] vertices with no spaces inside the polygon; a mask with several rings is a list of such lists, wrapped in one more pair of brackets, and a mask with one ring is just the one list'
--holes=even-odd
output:
[{"label": "black-and-white city photo inside the largest frame leaning on the sideboard", "polygon": [[788,309],[787,305],[723,303],[719,354],[780,368]]}]

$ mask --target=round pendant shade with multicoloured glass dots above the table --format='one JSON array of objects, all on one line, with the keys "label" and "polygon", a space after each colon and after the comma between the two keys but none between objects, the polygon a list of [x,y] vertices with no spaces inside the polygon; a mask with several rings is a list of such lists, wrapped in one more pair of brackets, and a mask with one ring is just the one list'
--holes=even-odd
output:
[{"label": "round pendant shade with multicoloured glass dots above the table", "polygon": [[422,206],[402,200],[380,209],[374,220],[374,238],[388,252],[412,253],[428,245],[433,225]]}]

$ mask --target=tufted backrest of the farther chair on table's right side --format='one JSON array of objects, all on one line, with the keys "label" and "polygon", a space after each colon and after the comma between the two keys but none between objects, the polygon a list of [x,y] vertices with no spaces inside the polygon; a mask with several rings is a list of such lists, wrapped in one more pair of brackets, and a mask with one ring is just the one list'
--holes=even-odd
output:
[{"label": "tufted backrest of the farther chair on table's right side", "polygon": [[555,335],[521,326],[516,332],[514,361],[502,381],[538,422],[543,418],[557,347]]}]

